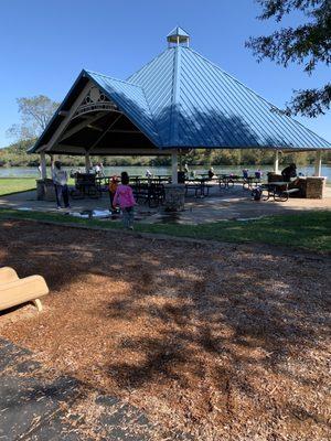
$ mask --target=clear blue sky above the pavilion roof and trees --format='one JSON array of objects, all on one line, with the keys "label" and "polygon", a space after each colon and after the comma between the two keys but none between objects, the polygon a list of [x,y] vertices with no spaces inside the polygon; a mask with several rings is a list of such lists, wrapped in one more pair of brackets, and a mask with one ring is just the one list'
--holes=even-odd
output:
[{"label": "clear blue sky above the pavilion roof and trees", "polygon": [[[15,98],[43,94],[61,101],[82,68],[125,79],[167,47],[166,35],[178,24],[195,51],[276,106],[292,89],[330,80],[325,66],[309,77],[300,66],[258,64],[245,40],[276,28],[256,20],[258,12],[254,0],[1,0],[0,147],[11,142],[6,130],[19,122]],[[331,141],[331,112],[297,119]]]}]

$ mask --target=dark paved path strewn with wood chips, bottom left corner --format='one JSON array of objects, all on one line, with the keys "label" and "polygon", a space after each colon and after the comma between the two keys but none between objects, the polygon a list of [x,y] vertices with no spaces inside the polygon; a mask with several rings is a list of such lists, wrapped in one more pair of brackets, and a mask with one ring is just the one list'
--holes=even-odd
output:
[{"label": "dark paved path strewn with wood chips, bottom left corner", "polygon": [[[147,418],[132,406],[90,390],[74,378],[50,374],[30,351],[0,337],[1,441],[158,438]],[[184,440],[181,434],[171,439]]]}]

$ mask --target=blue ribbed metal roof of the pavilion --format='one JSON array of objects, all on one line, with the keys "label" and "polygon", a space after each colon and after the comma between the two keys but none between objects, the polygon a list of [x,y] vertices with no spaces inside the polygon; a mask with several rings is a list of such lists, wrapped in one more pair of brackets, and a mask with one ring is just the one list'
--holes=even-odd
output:
[{"label": "blue ribbed metal roof of the pavilion", "polygon": [[[83,71],[75,84],[82,76],[97,84],[160,149],[331,149],[330,142],[189,47],[169,47],[126,82]],[[54,118],[33,151],[56,128]]]}]

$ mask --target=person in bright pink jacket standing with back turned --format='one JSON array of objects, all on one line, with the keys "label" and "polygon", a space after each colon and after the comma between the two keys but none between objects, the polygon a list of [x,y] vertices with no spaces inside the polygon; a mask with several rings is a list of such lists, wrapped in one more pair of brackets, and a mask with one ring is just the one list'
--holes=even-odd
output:
[{"label": "person in bright pink jacket standing with back turned", "polygon": [[135,219],[135,205],[136,201],[134,197],[132,189],[129,186],[129,175],[127,172],[120,174],[121,184],[118,185],[113,205],[116,207],[120,206],[122,214],[122,224],[125,228],[134,229]]}]

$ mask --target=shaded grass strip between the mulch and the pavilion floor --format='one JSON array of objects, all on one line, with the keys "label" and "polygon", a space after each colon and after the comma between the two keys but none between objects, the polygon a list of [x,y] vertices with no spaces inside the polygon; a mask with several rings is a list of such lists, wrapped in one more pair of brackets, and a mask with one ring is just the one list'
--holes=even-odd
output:
[{"label": "shaded grass strip between the mulch and the pavilion floor", "polygon": [[[49,220],[109,229],[121,229],[119,222],[81,219],[63,214],[1,209],[0,218]],[[299,215],[277,215],[247,222],[228,220],[201,225],[141,224],[138,233],[162,234],[196,239],[231,243],[260,243],[331,251],[331,212],[308,212]]]}]

